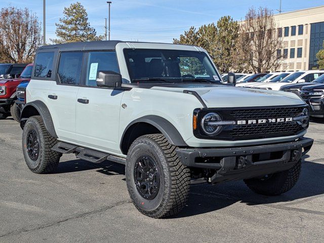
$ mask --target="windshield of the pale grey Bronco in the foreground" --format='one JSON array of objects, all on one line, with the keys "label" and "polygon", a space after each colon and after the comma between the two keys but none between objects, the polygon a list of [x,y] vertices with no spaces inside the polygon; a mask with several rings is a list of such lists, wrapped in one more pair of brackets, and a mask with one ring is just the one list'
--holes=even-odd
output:
[{"label": "windshield of the pale grey Bronco in the foreground", "polygon": [[199,79],[222,84],[216,68],[205,52],[125,49],[124,54],[132,82],[149,80],[158,83],[182,83]]}]

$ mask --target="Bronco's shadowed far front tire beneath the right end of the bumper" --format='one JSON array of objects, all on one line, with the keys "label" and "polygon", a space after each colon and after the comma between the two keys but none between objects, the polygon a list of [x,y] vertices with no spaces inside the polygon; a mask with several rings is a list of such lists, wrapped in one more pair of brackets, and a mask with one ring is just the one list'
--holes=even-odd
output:
[{"label": "Bronco's shadowed far front tire beneath the right end of the bumper", "polygon": [[285,193],[292,189],[299,178],[301,170],[301,160],[299,160],[292,168],[287,171],[282,171],[269,175],[268,179],[246,179],[245,184],[254,192],[275,196]]}]

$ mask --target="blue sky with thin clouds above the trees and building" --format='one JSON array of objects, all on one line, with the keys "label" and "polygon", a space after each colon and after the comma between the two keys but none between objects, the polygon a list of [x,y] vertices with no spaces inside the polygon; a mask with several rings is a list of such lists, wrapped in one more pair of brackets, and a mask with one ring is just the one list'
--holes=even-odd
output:
[{"label": "blue sky with thin clouds above the trees and building", "polygon": [[[46,39],[55,38],[55,23],[63,16],[64,7],[76,1],[46,0]],[[90,25],[104,33],[108,17],[106,0],[79,0],[87,10]],[[249,7],[268,7],[276,13],[280,0],[112,0],[111,39],[171,43],[190,26],[217,22],[224,15],[235,20],[244,18]],[[43,0],[1,0],[0,8],[28,7],[43,21]],[[282,0],[285,12],[323,5],[322,0]]]}]

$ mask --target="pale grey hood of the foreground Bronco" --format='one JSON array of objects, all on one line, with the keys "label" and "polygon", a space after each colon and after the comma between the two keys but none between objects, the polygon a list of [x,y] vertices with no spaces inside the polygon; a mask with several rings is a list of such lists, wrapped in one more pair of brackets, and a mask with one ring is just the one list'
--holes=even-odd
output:
[{"label": "pale grey hood of the foreground Bronco", "polygon": [[192,90],[198,93],[208,108],[305,104],[305,102],[296,94],[282,91],[268,91],[226,86],[200,88],[152,87],[151,89],[178,93],[183,93],[183,90]]}]

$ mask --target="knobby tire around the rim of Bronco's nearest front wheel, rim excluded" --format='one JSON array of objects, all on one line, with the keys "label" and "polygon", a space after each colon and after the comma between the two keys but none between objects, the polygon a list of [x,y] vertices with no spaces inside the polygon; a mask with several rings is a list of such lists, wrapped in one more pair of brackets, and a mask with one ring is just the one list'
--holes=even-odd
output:
[{"label": "knobby tire around the rim of Bronco's nearest front wheel, rim excluded", "polygon": [[[178,214],[186,204],[190,189],[190,170],[185,167],[162,134],[150,134],[137,138],[131,145],[126,163],[126,182],[133,204],[142,214],[151,218],[163,218]],[[158,193],[147,200],[135,185],[134,166],[140,156],[148,155],[156,163],[160,175]]]}]

